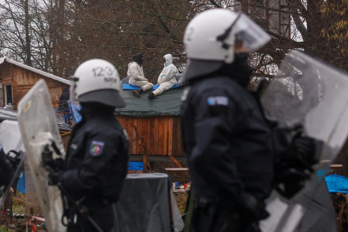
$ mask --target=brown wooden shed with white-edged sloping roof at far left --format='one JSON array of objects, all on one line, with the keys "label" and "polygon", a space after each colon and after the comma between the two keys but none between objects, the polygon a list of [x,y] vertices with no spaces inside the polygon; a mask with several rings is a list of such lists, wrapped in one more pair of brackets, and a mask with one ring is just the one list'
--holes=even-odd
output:
[{"label": "brown wooden shed with white-edged sloping roof at far left", "polygon": [[40,78],[46,81],[53,106],[57,106],[63,87],[69,86],[70,81],[7,57],[0,58],[0,107],[11,102],[16,110],[19,100]]}]

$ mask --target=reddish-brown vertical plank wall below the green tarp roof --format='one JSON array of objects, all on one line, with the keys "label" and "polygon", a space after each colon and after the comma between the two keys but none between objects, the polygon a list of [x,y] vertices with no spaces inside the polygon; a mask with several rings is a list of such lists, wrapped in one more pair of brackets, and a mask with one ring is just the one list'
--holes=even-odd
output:
[{"label": "reddish-brown vertical plank wall below the green tarp roof", "polygon": [[136,126],[146,155],[183,155],[180,116],[129,117],[117,115],[128,133],[129,154],[143,154]]}]

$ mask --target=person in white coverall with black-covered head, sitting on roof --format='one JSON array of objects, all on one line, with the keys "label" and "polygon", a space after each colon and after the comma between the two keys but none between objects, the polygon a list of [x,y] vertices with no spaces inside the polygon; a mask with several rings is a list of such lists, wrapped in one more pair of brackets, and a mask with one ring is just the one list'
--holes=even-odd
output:
[{"label": "person in white coverall with black-covered head, sitting on roof", "polygon": [[153,87],[153,84],[148,81],[144,77],[143,72],[143,54],[136,53],[132,57],[133,62],[130,62],[128,64],[128,71],[127,75],[129,77],[129,84],[132,86],[138,86],[141,87],[140,89],[133,90],[133,94],[140,98],[140,94],[145,92],[146,90],[149,90]]}]

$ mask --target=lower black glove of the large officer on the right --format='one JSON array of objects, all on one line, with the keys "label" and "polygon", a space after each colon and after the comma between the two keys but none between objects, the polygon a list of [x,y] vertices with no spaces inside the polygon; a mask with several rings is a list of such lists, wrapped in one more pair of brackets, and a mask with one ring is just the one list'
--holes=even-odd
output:
[{"label": "lower black glove of the large officer on the right", "polygon": [[249,193],[242,193],[241,208],[244,211],[244,217],[250,222],[259,221],[269,216],[265,210],[266,205],[262,200],[256,199]]}]

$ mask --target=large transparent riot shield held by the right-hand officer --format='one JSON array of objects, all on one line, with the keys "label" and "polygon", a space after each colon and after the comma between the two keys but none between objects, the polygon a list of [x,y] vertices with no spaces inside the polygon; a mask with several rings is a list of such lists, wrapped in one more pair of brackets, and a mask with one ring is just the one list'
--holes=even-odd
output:
[{"label": "large transparent riot shield held by the right-hand officer", "polygon": [[[348,76],[300,51],[292,51],[261,98],[265,114],[280,127],[301,125],[304,134],[323,142],[315,171],[326,171],[348,134]],[[320,183],[313,173],[292,199],[273,192],[267,200],[271,214],[261,222],[263,232],[293,232]]]}]

